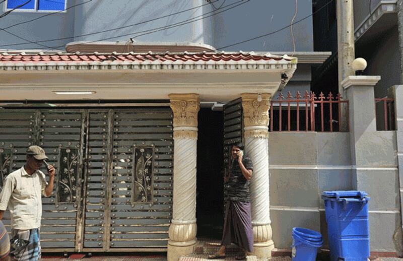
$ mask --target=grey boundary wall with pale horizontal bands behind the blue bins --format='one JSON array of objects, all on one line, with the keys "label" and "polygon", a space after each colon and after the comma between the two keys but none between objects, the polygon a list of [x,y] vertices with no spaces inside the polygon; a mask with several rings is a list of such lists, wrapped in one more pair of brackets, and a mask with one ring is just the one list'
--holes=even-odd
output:
[{"label": "grey boundary wall with pale horizontal bands behind the blue bins", "polygon": [[[320,197],[325,190],[365,190],[371,197],[371,251],[395,251],[399,224],[395,132],[367,134],[368,165],[351,164],[349,133],[269,134],[270,208],[276,247],[290,248],[293,227],[320,231],[327,226]],[[358,177],[358,178],[356,178]]]}]

